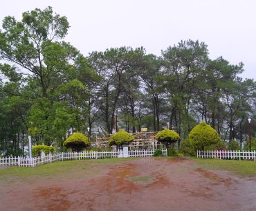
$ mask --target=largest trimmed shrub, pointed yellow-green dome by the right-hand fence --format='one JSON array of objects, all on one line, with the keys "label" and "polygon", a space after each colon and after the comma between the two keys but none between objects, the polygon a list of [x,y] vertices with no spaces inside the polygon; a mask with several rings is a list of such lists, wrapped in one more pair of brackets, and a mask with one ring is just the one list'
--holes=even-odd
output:
[{"label": "largest trimmed shrub, pointed yellow-green dome by the right-hand fence", "polygon": [[203,150],[206,146],[217,144],[221,140],[217,131],[205,122],[196,125],[190,131],[189,138],[196,150]]}]

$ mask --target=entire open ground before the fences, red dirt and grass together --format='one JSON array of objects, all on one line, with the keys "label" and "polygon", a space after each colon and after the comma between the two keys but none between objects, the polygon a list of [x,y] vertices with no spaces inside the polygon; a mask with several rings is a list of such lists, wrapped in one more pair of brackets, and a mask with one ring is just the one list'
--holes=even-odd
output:
[{"label": "entire open ground before the fences, red dirt and grass together", "polygon": [[0,169],[0,204],[3,210],[21,211],[252,210],[255,169],[252,161],[188,157],[7,167]]}]

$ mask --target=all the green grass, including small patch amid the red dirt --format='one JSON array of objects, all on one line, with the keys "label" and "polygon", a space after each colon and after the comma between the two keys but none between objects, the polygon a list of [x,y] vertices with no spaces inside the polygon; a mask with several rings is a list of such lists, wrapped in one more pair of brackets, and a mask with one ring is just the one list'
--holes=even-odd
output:
[{"label": "all the green grass, including small patch amid the red dirt", "polygon": [[[24,181],[33,183],[39,178],[74,178],[75,176],[92,176],[99,173],[101,166],[111,166],[139,158],[104,158],[92,160],[66,160],[39,165],[37,167],[7,167],[0,169],[0,181],[9,183],[12,181]],[[251,160],[219,160],[190,158],[198,167],[204,169],[227,170],[238,176],[256,176],[256,163]],[[148,181],[149,176],[131,177],[131,181]]]}]

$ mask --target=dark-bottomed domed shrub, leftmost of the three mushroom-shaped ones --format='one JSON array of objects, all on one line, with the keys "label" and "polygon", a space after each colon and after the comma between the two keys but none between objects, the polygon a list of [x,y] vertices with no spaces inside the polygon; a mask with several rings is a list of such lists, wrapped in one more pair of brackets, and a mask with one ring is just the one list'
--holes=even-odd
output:
[{"label": "dark-bottomed domed shrub, leftmost of the three mushroom-shaped ones", "polygon": [[90,141],[84,134],[74,133],[64,141],[63,145],[73,152],[81,152],[84,148],[90,146]]}]

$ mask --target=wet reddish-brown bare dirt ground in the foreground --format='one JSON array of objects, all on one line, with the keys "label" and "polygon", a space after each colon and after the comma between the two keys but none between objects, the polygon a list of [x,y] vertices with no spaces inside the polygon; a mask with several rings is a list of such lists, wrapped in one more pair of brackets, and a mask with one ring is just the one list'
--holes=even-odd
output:
[{"label": "wet reddish-brown bare dirt ground in the foreground", "polygon": [[0,181],[0,210],[256,210],[255,178],[202,169],[186,158],[140,158],[95,165],[93,172],[17,187]]}]

